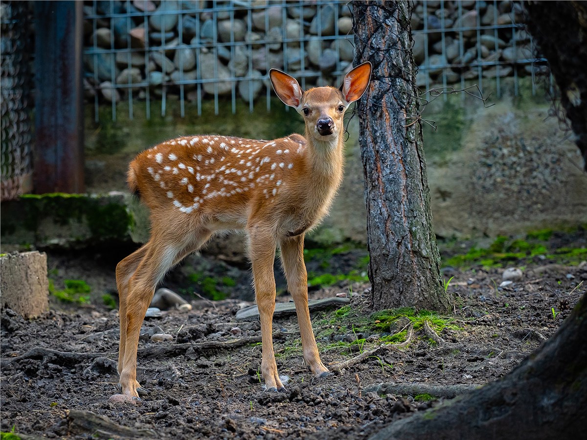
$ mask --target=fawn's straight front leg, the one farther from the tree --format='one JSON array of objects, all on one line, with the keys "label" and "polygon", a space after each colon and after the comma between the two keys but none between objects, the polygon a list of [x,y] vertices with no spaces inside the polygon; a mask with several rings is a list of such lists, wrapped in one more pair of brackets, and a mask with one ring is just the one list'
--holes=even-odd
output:
[{"label": "fawn's straight front leg, the one farther from the tree", "polygon": [[275,235],[272,231],[255,226],[249,230],[249,238],[255,297],[261,319],[261,373],[267,390],[283,390],[284,385],[279,380],[277,373],[272,335],[273,312],[275,311],[275,277],[273,275]]}]

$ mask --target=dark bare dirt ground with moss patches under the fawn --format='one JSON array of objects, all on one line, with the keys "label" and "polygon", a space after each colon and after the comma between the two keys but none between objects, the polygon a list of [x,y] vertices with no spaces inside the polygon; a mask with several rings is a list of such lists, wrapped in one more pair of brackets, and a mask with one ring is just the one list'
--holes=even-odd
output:
[{"label": "dark bare dirt ground with moss patches under the fawn", "polygon": [[[111,289],[110,268],[93,258],[49,255],[49,267],[58,261],[72,277],[91,272],[89,282]],[[312,313],[323,363],[334,371],[337,363],[372,353],[316,380],[302,363],[295,317],[275,319],[286,392],[267,392],[259,383],[259,324],[235,320],[252,304],[241,299],[192,300],[189,312],[147,318],[137,378],[150,394],[122,404],[109,402],[118,392],[116,310],[53,303],[31,321],[4,310],[1,430],[14,429],[23,438],[367,438],[384,424],[437,405],[442,398],[433,398],[426,385],[450,391],[507,374],[555,333],[587,290],[584,264],[534,259],[521,280],[499,287],[503,271],[444,269],[445,279],[454,276],[448,291],[455,306],[444,316],[450,325],[434,334],[414,326],[406,346],[383,344],[402,330],[402,321],[377,327],[368,309],[369,285],[343,281],[311,292],[311,299],[352,292],[350,307]],[[154,333],[173,340],[152,342]],[[412,384],[413,391],[372,387],[391,383]]]}]

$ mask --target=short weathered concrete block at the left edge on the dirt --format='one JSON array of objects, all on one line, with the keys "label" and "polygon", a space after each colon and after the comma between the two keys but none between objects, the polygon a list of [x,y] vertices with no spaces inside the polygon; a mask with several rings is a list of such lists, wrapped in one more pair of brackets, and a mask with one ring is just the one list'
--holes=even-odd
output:
[{"label": "short weathered concrete block at the left edge on the dirt", "polygon": [[45,252],[11,253],[0,257],[0,305],[25,318],[49,309]]}]

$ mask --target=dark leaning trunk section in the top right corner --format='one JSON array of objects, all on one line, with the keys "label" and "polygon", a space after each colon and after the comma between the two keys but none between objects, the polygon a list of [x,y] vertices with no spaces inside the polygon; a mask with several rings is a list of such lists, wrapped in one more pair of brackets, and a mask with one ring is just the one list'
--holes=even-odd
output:
[{"label": "dark leaning trunk section in the top right corner", "polygon": [[527,2],[528,29],[546,56],[587,171],[587,2]]}]

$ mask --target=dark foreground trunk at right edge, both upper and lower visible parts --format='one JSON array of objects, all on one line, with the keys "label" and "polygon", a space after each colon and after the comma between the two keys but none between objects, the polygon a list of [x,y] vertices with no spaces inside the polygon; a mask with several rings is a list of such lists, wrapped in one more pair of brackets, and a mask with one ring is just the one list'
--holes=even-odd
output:
[{"label": "dark foreground trunk at right edge, both upper and lower visible parts", "polygon": [[[549,60],[575,142],[587,158],[587,5],[528,2],[527,7],[528,28]],[[514,371],[393,423],[370,440],[583,438],[585,408],[587,294],[554,336]]]}]

